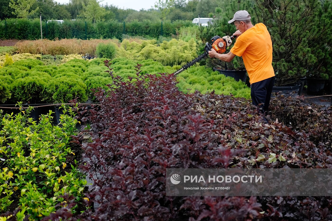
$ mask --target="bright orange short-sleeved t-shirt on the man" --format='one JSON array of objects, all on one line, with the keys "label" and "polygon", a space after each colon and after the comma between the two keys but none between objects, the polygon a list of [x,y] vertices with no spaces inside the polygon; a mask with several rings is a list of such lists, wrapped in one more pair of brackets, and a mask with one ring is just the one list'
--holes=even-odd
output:
[{"label": "bright orange short-sleeved t-shirt on the man", "polygon": [[250,84],[275,76],[271,36],[263,23],[256,24],[237,37],[230,52],[242,56]]}]

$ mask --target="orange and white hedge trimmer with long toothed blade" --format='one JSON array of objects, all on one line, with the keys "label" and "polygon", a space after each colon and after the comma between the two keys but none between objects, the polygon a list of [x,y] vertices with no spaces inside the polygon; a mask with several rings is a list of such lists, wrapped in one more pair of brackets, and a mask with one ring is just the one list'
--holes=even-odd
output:
[{"label": "orange and white hedge trimmer with long toothed blade", "polygon": [[219,36],[214,36],[213,38],[211,38],[211,44],[210,43],[206,43],[205,45],[205,53],[196,57],[194,60],[188,62],[187,64],[185,64],[184,66],[182,66],[179,70],[175,71],[173,74],[173,76],[178,75],[180,72],[186,70],[188,67],[194,65],[196,62],[200,61],[201,59],[203,59],[204,57],[206,57],[208,55],[208,52],[211,51],[211,49],[213,48],[217,53],[222,54],[226,51],[226,48],[228,46],[230,46],[232,44],[232,40],[234,38],[236,38],[237,36],[232,35],[231,37],[224,36],[222,38],[220,38]]}]

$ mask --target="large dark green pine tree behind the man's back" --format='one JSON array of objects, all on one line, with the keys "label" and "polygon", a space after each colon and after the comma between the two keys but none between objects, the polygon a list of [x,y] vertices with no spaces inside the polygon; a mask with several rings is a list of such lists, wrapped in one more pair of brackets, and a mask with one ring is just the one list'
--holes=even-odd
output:
[{"label": "large dark green pine tree behind the man's back", "polygon": [[[329,5],[331,0],[325,0]],[[329,3],[327,3],[329,2]],[[331,63],[331,7],[320,0],[255,0],[252,16],[264,23],[272,38],[276,85],[295,83],[313,69]],[[323,64],[324,63],[324,64]]]}]

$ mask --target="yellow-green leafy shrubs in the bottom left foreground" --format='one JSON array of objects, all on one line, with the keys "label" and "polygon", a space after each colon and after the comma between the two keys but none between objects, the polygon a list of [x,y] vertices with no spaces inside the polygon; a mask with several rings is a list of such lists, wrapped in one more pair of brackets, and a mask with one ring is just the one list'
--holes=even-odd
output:
[{"label": "yellow-green leafy shrubs in the bottom left foreground", "polygon": [[[20,207],[17,220],[41,220],[56,210],[65,194],[83,205],[86,180],[77,161],[81,152],[70,144],[77,120],[71,108],[63,108],[67,114],[61,114],[56,126],[51,111],[38,123],[29,118],[32,107],[16,115],[0,111],[0,214]],[[82,208],[76,205],[72,212]]]}]

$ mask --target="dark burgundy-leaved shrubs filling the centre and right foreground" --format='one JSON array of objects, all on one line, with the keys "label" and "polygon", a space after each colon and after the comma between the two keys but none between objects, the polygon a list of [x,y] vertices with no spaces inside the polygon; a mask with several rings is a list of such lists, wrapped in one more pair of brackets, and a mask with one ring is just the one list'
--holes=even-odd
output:
[{"label": "dark burgundy-leaved shrubs filling the centre and right foreground", "polygon": [[[300,114],[288,117],[287,110],[279,111],[284,97],[274,100],[272,116],[292,121],[293,129],[276,119],[264,124],[257,107],[243,98],[184,94],[169,75],[140,75],[139,66],[135,71],[136,79],[114,77],[113,90],[97,92],[100,106],[79,111],[81,121],[92,122],[89,131],[76,137],[90,159],[83,170],[94,177],[86,197],[100,206],[71,217],[74,204],[69,205],[45,220],[332,218],[331,197],[169,197],[165,192],[166,168],[331,167],[331,130],[325,128],[329,136],[324,143],[313,142],[331,122],[331,108],[311,107],[316,117],[309,123],[318,127],[298,131]],[[297,98],[287,99],[303,106]],[[91,143],[82,143],[86,133]]]}]

